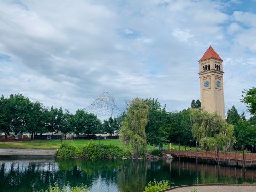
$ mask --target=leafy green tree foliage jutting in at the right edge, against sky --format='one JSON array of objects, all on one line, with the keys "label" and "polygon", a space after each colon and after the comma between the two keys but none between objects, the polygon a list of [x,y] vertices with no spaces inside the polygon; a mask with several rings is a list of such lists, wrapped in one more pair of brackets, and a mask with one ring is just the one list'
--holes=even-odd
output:
[{"label": "leafy green tree foliage jutting in at the right edge, against sky", "polygon": [[256,87],[252,87],[252,89],[244,90],[242,95],[243,99],[241,102],[245,103],[246,106],[249,108],[247,111],[251,115],[256,115]]}]

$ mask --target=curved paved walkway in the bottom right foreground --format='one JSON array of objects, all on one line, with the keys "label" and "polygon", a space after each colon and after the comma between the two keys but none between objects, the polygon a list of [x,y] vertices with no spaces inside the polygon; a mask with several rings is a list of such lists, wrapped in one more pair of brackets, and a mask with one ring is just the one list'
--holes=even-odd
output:
[{"label": "curved paved walkway in the bottom right foreground", "polygon": [[174,187],[165,192],[255,192],[256,185],[188,185]]}]

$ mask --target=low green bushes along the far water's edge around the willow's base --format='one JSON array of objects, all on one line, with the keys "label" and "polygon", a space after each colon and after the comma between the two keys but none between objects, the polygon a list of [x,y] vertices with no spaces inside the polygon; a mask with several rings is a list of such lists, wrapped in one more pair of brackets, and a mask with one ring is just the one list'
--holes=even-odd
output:
[{"label": "low green bushes along the far water's edge around the willow's base", "polygon": [[[87,143],[82,147],[75,147],[69,144],[62,144],[56,152],[59,158],[83,158],[83,159],[127,159],[133,155],[129,151],[124,151],[115,145],[103,145],[93,142]],[[162,158],[161,150],[154,150],[147,154],[146,159]],[[167,158],[163,156],[163,158]]]}]

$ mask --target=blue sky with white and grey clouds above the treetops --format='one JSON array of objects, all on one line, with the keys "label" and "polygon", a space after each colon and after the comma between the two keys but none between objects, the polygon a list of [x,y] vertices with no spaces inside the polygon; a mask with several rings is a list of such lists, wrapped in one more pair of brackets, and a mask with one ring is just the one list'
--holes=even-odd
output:
[{"label": "blue sky with white and grey clouds above the treetops", "polygon": [[121,111],[136,97],[180,111],[200,99],[210,45],[223,59],[226,113],[246,112],[256,0],[0,0],[0,93],[71,113],[104,91]]}]

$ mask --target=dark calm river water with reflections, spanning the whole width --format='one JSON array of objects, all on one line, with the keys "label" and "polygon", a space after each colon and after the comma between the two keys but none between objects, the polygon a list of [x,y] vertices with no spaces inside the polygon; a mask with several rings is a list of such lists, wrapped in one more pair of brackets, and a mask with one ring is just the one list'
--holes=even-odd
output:
[{"label": "dark calm river water with reflections, spanning the whole width", "polygon": [[46,191],[49,185],[87,185],[90,192],[141,192],[149,181],[173,186],[195,183],[255,183],[256,170],[182,162],[79,159],[0,160],[0,191]]}]

